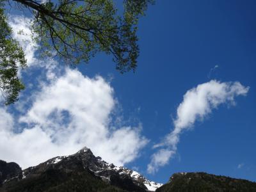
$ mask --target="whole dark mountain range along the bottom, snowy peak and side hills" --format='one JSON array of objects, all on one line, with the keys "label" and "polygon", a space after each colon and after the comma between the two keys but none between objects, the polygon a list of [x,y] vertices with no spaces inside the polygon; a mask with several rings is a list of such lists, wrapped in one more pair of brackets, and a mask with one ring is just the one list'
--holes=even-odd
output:
[{"label": "whole dark mountain range along the bottom, snowy peak and side hills", "polygon": [[175,173],[166,184],[95,157],[89,148],[21,170],[0,161],[0,192],[255,192],[256,182],[207,173]]}]

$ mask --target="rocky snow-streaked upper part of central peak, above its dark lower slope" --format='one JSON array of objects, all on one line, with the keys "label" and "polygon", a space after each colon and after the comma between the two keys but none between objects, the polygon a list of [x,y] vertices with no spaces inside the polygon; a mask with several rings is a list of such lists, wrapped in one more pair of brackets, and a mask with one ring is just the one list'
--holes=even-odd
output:
[{"label": "rocky snow-streaked upper part of central peak, above its dark lower slope", "polygon": [[[72,164],[79,164],[79,168],[72,166]],[[143,175],[130,170],[129,168],[109,164],[101,157],[95,157],[90,148],[84,147],[76,154],[72,154],[70,156],[57,156],[45,161],[44,163],[40,163],[37,166],[32,166],[22,170],[22,178],[16,183],[4,183],[4,190],[8,191],[8,188],[11,188],[10,184],[15,185],[25,182],[26,180],[33,180],[33,178],[41,178],[41,176],[48,173],[49,170],[54,170],[54,172],[59,172],[61,170],[63,173],[60,174],[62,174],[63,177],[66,177],[67,175],[65,173],[71,172],[70,170],[88,172],[91,175],[89,174],[86,177],[92,176],[94,178],[95,176],[96,179],[102,180],[109,186],[115,186],[116,188],[127,191],[155,191],[162,185],[145,179]],[[47,177],[49,177],[49,175],[47,175]],[[10,191],[12,191],[12,189],[10,189]]]}]

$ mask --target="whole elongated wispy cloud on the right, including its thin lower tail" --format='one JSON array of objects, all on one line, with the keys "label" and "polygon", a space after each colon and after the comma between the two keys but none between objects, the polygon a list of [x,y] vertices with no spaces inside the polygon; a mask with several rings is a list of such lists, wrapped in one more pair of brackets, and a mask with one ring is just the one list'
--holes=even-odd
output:
[{"label": "whole elongated wispy cloud on the right, including its thin lower tail", "polygon": [[161,143],[153,147],[164,147],[164,150],[169,151],[169,153],[166,153],[163,162],[156,161],[160,157],[163,158],[163,152],[161,152],[163,149],[153,154],[151,162],[148,164],[148,172],[156,172],[159,166],[164,166],[168,162],[166,159],[170,159],[175,154],[182,131],[192,127],[196,120],[203,120],[206,115],[212,112],[212,109],[218,108],[220,104],[234,105],[235,97],[246,95],[248,90],[249,87],[244,87],[239,82],[220,83],[216,80],[199,84],[196,88],[188,90],[177,108],[177,118],[173,120],[173,131]]}]

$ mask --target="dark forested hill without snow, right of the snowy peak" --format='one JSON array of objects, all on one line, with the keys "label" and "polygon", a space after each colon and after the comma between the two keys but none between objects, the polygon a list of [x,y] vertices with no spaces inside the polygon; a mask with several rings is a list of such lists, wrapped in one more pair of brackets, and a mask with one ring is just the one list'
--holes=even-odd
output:
[{"label": "dark forested hill without snow, right of the snowy peak", "polygon": [[243,179],[233,179],[207,173],[175,173],[167,184],[156,189],[156,192],[253,192],[256,182]]}]

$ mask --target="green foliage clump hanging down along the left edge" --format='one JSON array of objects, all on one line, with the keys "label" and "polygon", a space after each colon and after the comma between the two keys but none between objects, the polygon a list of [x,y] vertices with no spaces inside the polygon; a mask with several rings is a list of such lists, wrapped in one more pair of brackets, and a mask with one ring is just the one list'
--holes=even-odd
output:
[{"label": "green foliage clump hanging down along the left edge", "polygon": [[22,48],[11,36],[12,30],[2,8],[0,31],[0,90],[5,104],[11,104],[17,100],[20,90],[24,89],[18,77],[18,69],[26,66],[26,60]]}]

